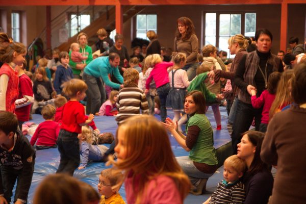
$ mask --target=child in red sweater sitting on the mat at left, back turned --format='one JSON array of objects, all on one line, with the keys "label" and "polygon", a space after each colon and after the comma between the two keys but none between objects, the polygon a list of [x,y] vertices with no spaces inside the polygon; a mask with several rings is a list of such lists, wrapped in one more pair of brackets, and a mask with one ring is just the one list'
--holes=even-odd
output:
[{"label": "child in red sweater sitting on the mat at left, back turned", "polygon": [[[46,105],[42,108],[41,114],[45,121],[38,125],[30,143],[37,150],[56,148],[60,132],[60,124],[54,121],[55,107],[52,105]],[[34,145],[35,142],[36,145]]]}]

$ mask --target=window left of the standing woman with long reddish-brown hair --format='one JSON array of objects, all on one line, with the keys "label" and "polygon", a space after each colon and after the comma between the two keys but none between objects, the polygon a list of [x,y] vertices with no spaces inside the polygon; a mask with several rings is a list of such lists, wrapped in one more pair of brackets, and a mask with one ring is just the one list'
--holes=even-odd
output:
[{"label": "window left of the standing woman with long reddish-brown hair", "polygon": [[157,15],[140,14],[136,16],[136,37],[148,40],[146,37],[147,31],[157,33]]}]

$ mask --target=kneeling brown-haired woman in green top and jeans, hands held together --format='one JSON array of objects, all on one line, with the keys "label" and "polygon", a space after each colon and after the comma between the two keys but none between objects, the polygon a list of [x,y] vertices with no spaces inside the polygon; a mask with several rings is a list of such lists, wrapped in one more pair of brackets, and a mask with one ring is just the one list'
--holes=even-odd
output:
[{"label": "kneeling brown-haired woman in green top and jeans, hands held together", "polygon": [[164,125],[177,143],[189,151],[189,156],[177,157],[176,160],[193,185],[190,193],[201,195],[206,190],[208,178],[217,170],[213,129],[205,115],[205,97],[200,91],[186,94],[184,108],[186,114],[190,115],[186,124],[187,136],[177,130],[177,123],[170,118],[166,119]]}]

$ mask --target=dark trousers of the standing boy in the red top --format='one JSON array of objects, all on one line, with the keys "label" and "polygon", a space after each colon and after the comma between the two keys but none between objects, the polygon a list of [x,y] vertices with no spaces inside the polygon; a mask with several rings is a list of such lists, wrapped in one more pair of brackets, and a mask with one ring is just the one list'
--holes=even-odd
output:
[{"label": "dark trousers of the standing boy in the red top", "polygon": [[58,147],[61,160],[57,173],[68,173],[73,176],[74,170],[80,165],[78,133],[61,130],[58,138]]}]

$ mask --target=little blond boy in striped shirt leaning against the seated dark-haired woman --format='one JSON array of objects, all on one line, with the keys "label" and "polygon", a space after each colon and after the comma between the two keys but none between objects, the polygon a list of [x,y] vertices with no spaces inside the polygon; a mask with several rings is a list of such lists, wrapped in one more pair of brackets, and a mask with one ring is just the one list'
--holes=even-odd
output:
[{"label": "little blond boy in striped shirt leaning against the seated dark-haired woman", "polygon": [[215,192],[203,204],[214,203],[244,203],[244,184],[240,181],[246,170],[246,163],[237,155],[228,157],[224,161],[223,177]]}]

